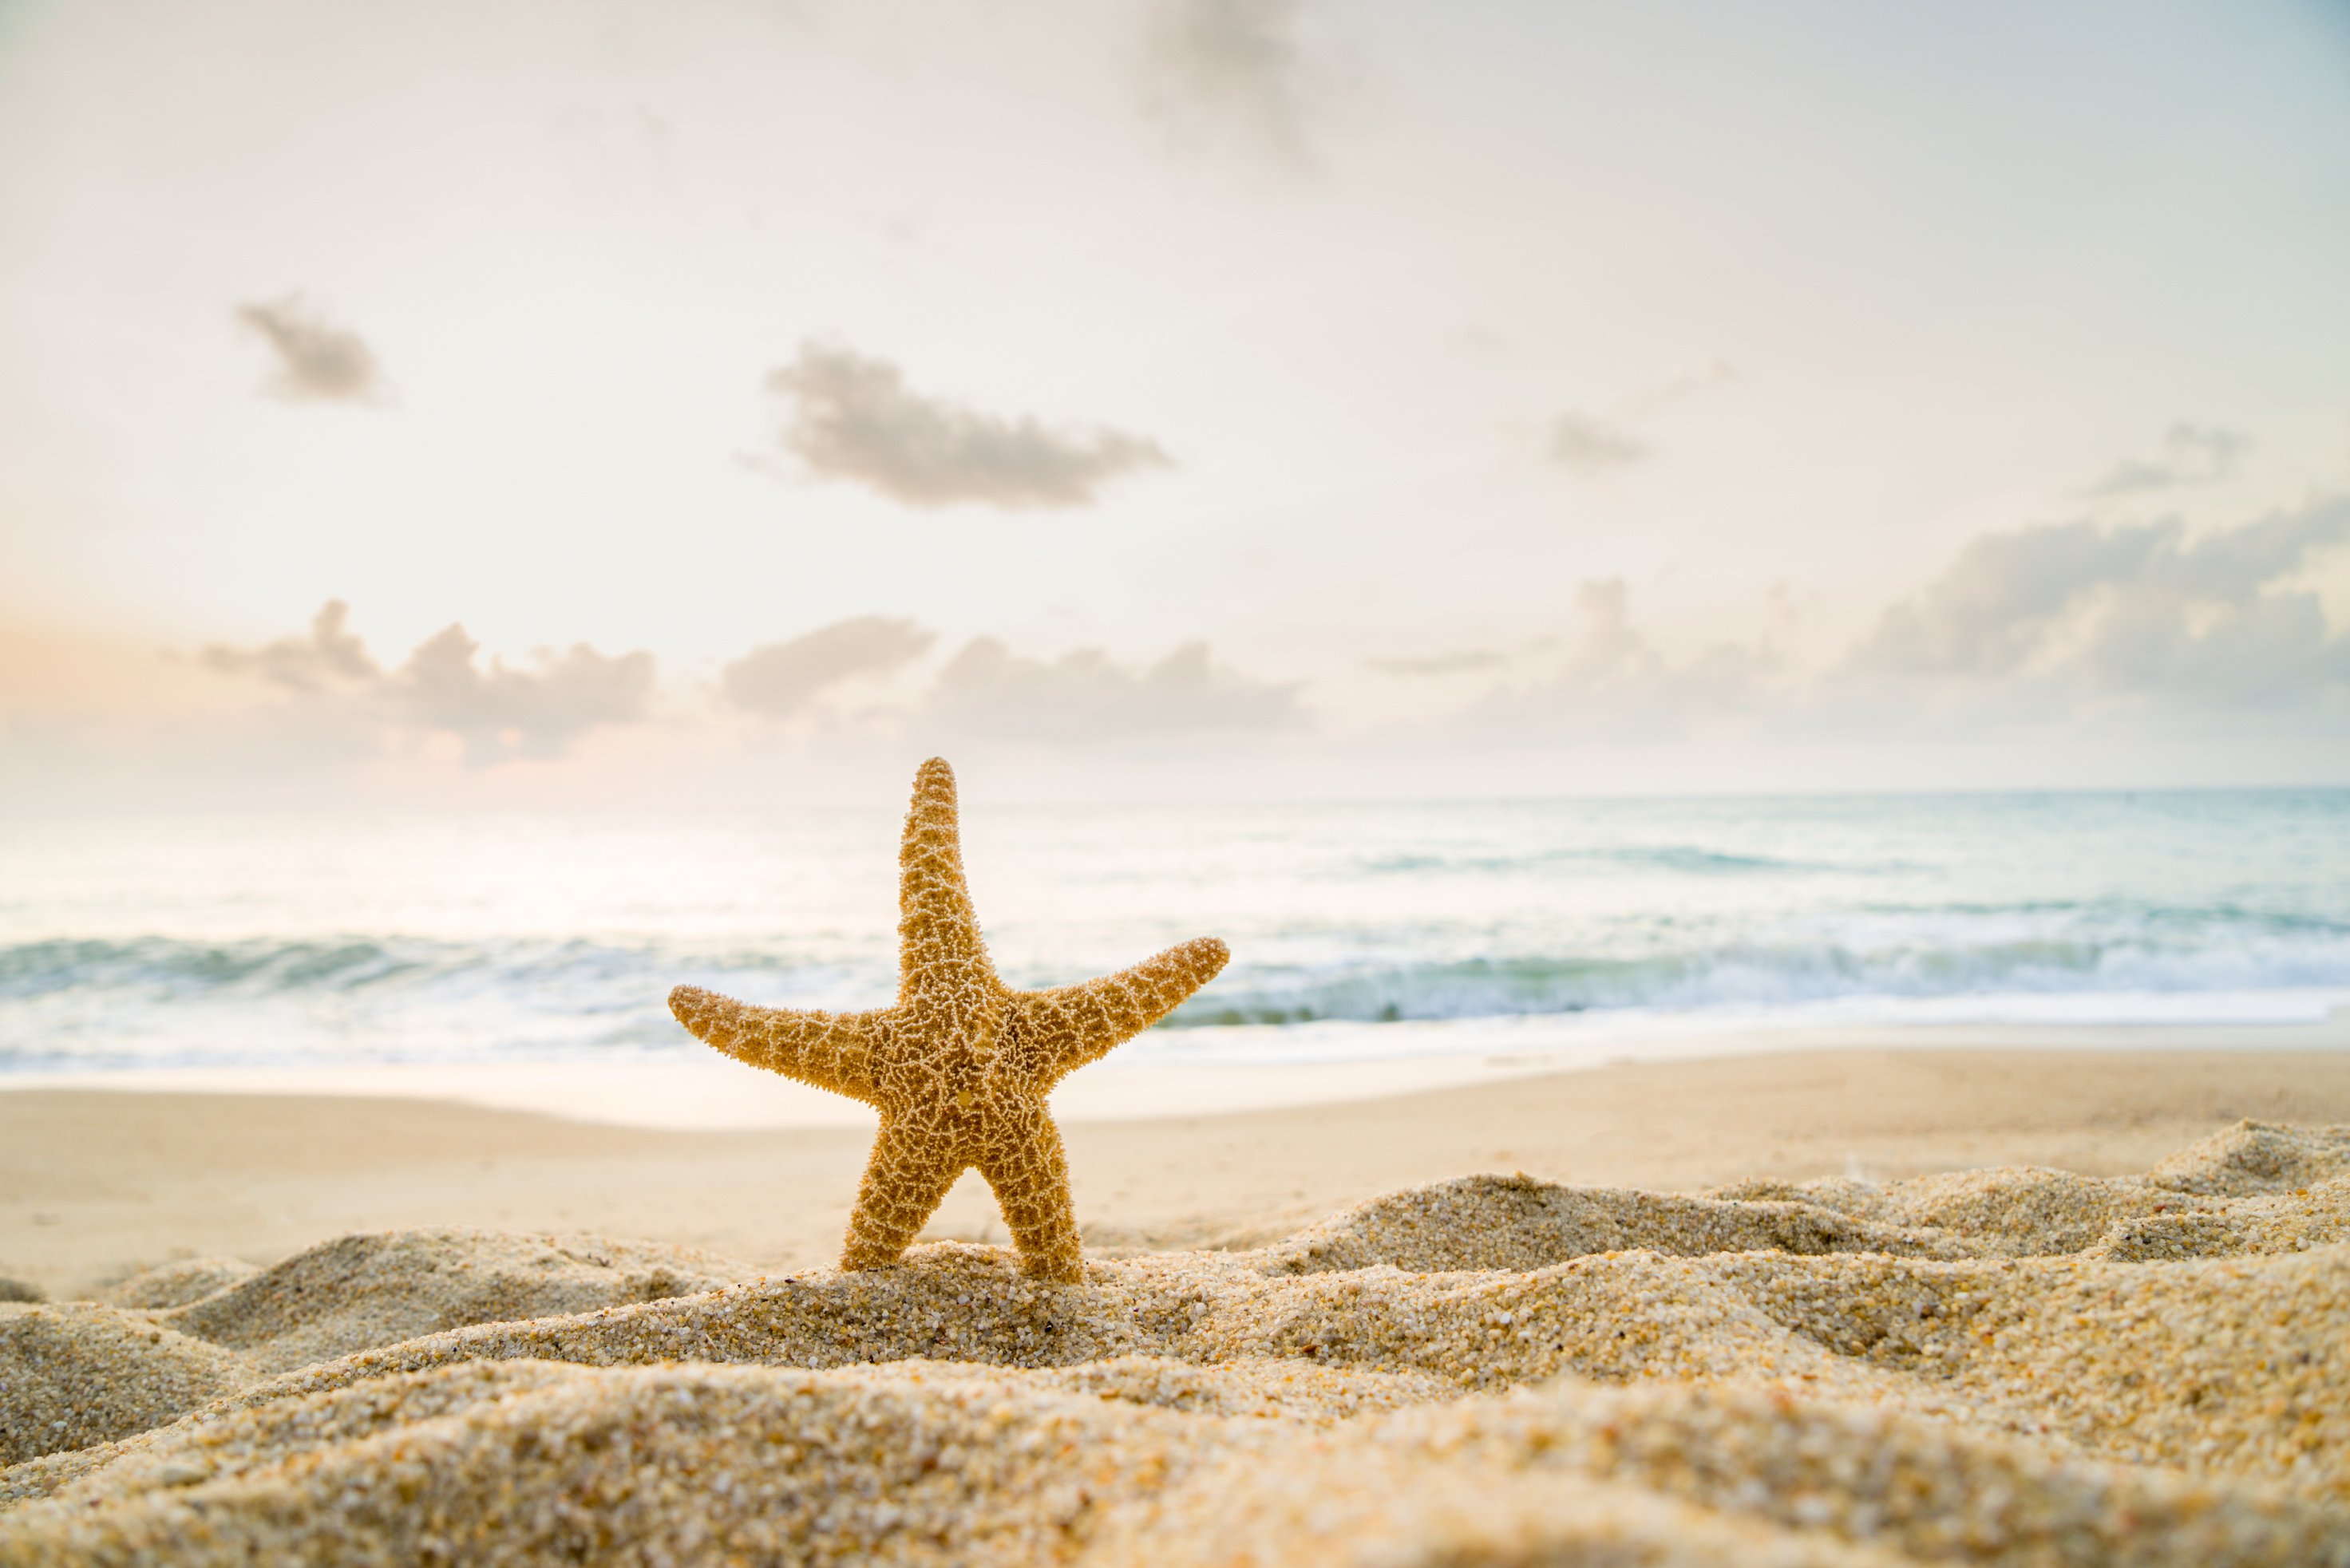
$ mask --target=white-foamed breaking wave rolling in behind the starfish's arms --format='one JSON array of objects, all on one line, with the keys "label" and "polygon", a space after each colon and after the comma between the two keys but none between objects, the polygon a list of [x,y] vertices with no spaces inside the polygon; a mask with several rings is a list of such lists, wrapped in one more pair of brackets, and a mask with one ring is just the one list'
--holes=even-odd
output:
[{"label": "white-foamed breaking wave rolling in behind the starfish's arms", "polygon": [[[2169,997],[2214,1020],[2256,992],[2350,994],[2350,922],[2244,910],[1878,910],[1741,940],[1657,940],[1638,952],[1398,959],[1391,940],[1311,961],[1250,943],[1166,1027],[1283,1027],[1457,1018],[1779,1011],[1817,1004]],[[1074,973],[1008,971],[1015,985]],[[790,947],[674,940],[38,940],[0,947],[0,1070],[644,1056],[686,1048],[670,985],[776,1006],[877,1006],[893,976],[874,950],[844,961]]]}]

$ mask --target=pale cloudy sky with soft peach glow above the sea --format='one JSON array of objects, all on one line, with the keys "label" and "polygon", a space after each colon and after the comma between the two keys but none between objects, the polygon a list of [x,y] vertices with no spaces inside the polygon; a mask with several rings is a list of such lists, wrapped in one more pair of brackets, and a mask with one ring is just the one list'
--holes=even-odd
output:
[{"label": "pale cloudy sky with soft peach glow above the sea", "polygon": [[0,802],[2350,783],[2338,0],[0,0]]}]

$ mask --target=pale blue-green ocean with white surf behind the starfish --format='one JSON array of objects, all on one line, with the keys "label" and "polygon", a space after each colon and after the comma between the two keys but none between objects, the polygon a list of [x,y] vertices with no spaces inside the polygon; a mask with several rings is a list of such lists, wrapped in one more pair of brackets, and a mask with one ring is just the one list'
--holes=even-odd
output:
[{"label": "pale blue-green ocean with white surf behind the starfish", "polygon": [[[677,983],[888,1001],[895,837],[895,804],[16,818],[0,1072],[700,1053]],[[2350,1004],[2350,790],[966,804],[964,858],[1013,985],[1231,943],[1130,1060]]]}]

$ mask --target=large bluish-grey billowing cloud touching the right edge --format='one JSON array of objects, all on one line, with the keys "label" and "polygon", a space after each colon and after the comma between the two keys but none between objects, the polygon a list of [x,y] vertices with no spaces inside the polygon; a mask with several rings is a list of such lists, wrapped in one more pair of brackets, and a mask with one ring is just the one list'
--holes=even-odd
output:
[{"label": "large bluish-grey billowing cloud touching the right edge", "polygon": [[2291,583],[2350,541],[2350,496],[2188,538],[2176,520],[2044,524],[1967,543],[1847,661],[1939,682],[2280,705],[2350,686],[2350,635]]}]

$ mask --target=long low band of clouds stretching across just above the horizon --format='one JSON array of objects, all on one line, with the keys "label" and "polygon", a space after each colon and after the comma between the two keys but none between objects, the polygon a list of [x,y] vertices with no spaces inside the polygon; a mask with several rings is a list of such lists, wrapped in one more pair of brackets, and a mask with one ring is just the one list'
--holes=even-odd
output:
[{"label": "long low band of clouds stretching across just above the horizon", "polygon": [[[1824,743],[1889,755],[1932,741],[1936,755],[1962,757],[2000,736],[2040,736],[2033,755],[2080,762],[2101,733],[2160,738],[2164,757],[2225,733],[2310,769],[2345,755],[2326,736],[2350,733],[2350,628],[2329,621],[2317,588],[2345,548],[2350,496],[2200,531],[2075,520],[1986,534],[1847,646],[1810,661],[1781,644],[1802,630],[1784,595],[1770,632],[1692,651],[1643,625],[1622,578],[1589,578],[1563,592],[1556,637],[1358,663],[1363,682],[1443,682],[1422,686],[1443,710],[1410,698],[1424,717],[1382,724],[1368,705],[1351,729],[1325,726],[1302,682],[1220,663],[1206,642],[1123,661],[1100,646],[1032,656],[975,637],[935,661],[938,632],[891,616],[752,646],[703,689],[700,712],[689,684],[672,691],[672,710],[719,741],[726,717],[783,729],[815,719],[834,738],[996,743],[1060,759],[1156,755],[1156,741],[1198,743],[1201,755],[1271,741],[1295,752],[1292,741],[1309,741],[1332,757],[1417,759],[1431,748],[1473,757],[1694,738],[1770,738],[1791,755]],[[315,724],[343,752],[381,750],[385,731],[430,731],[456,736],[472,762],[550,757],[590,731],[649,722],[656,703],[651,654],[573,644],[508,661],[484,656],[458,625],[388,665],[341,602],[301,635],[207,646],[197,663],[270,686],[289,722]],[[1344,696],[1330,712],[1344,712]],[[355,745],[364,736],[376,738]]]}]

